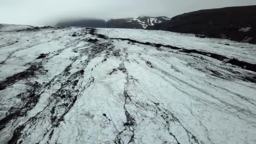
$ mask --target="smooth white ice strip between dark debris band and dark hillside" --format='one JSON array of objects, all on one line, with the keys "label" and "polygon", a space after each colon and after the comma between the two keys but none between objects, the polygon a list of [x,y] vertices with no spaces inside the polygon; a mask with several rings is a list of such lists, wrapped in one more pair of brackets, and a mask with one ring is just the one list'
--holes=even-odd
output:
[{"label": "smooth white ice strip between dark debris band and dark hillside", "polygon": [[256,45],[250,43],[199,38],[193,34],[142,29],[99,29],[98,32],[113,38],[130,38],[141,42],[161,43],[163,45],[217,53],[256,64]]}]

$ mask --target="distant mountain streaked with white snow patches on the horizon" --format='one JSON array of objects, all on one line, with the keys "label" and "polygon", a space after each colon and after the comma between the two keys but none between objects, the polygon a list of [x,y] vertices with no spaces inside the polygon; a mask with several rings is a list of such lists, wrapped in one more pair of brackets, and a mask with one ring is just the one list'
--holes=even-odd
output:
[{"label": "distant mountain streaked with white snow patches on the horizon", "polygon": [[171,20],[166,16],[150,17],[139,16],[138,18],[111,19],[107,21],[108,28],[130,28],[130,29],[147,29],[149,26],[160,24]]}]

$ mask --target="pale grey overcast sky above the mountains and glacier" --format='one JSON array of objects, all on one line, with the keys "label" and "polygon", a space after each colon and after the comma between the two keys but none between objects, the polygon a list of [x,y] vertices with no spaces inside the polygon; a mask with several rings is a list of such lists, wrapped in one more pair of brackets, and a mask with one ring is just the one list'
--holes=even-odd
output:
[{"label": "pale grey overcast sky above the mountains and glacier", "polygon": [[168,16],[208,8],[256,5],[256,0],[0,0],[0,23],[45,25],[59,19]]}]

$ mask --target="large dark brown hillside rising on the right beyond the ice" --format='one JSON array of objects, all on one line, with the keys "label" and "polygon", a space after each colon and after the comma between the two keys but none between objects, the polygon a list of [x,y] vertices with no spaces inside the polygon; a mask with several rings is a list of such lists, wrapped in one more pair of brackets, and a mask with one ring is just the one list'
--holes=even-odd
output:
[{"label": "large dark brown hillside rising on the right beyond the ice", "polygon": [[149,28],[256,43],[256,5],[184,13]]}]

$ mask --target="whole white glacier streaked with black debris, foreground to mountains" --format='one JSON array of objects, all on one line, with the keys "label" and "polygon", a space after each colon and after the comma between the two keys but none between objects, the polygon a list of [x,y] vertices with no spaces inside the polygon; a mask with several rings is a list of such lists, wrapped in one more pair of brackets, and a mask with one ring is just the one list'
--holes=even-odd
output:
[{"label": "whole white glacier streaked with black debris, foreground to mountains", "polygon": [[256,45],[0,25],[0,144],[255,144],[256,72],[232,58]]}]

